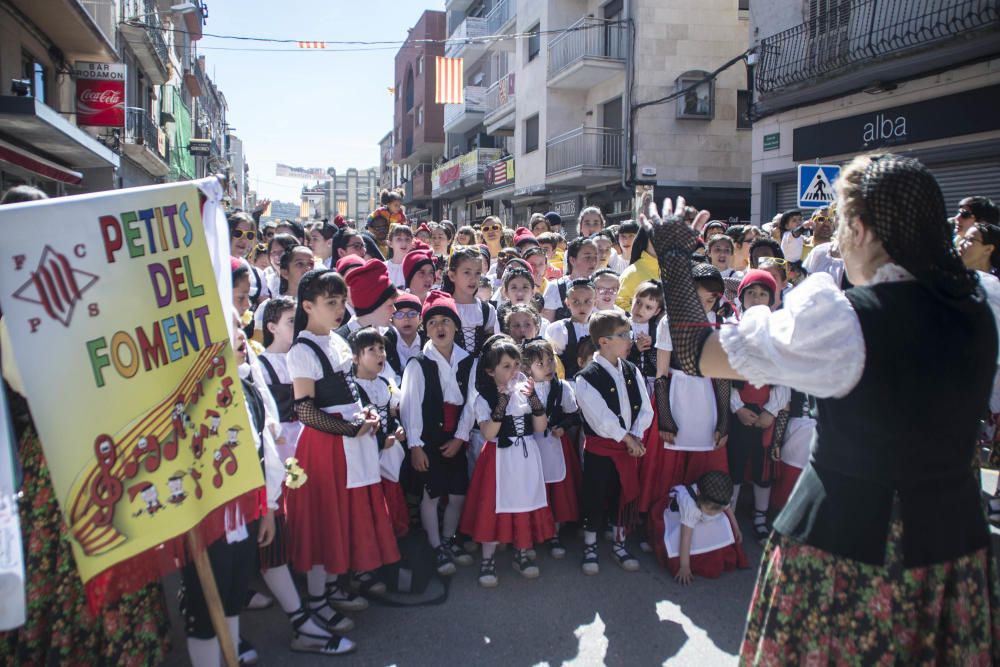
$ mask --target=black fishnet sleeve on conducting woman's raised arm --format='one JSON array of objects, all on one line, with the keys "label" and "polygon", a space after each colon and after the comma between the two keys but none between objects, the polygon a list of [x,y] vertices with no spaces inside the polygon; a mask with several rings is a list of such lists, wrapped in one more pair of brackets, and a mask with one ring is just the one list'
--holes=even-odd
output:
[{"label": "black fishnet sleeve on conducting woman's raised arm", "polygon": [[653,226],[653,247],[660,262],[663,302],[670,321],[674,350],[670,365],[688,375],[701,376],[701,350],[712,330],[691,279],[691,251],[697,235],[683,219],[671,216]]}]

